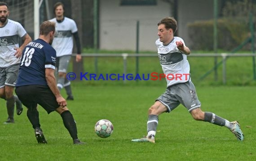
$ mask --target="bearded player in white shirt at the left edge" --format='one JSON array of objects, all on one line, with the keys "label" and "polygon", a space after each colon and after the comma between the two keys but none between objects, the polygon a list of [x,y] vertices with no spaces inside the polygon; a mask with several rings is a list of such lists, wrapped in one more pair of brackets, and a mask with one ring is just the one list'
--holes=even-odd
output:
[{"label": "bearded player in white shirt at the left edge", "polygon": [[[6,100],[8,119],[4,123],[14,123],[14,104],[17,114],[22,113],[22,104],[17,96],[13,95],[20,57],[23,48],[31,41],[31,37],[18,22],[8,19],[9,7],[0,2],[0,97]],[[19,39],[23,44],[19,47]]]}]

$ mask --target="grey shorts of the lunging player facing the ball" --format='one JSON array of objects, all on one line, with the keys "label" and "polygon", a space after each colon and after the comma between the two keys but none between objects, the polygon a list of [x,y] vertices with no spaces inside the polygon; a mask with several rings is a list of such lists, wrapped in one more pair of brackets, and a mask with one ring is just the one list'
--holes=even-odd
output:
[{"label": "grey shorts of the lunging player facing the ball", "polygon": [[168,112],[171,112],[179,104],[185,106],[189,112],[201,106],[194,84],[191,81],[169,86],[157,100],[166,106]]}]

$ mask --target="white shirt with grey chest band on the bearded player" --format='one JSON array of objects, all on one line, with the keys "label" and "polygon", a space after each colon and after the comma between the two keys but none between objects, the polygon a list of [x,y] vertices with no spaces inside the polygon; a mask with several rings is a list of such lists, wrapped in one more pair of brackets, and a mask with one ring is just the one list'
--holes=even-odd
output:
[{"label": "white shirt with grey chest band on the bearded player", "polygon": [[6,25],[0,27],[0,68],[20,63],[20,58],[14,56],[14,48],[19,48],[19,39],[26,35],[26,30],[19,22],[6,21]]}]

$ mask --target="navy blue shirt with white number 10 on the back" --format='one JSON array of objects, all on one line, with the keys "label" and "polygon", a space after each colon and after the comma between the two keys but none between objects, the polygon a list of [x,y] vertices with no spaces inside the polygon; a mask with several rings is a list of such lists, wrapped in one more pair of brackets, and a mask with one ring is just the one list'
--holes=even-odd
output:
[{"label": "navy blue shirt with white number 10 on the back", "polygon": [[45,68],[55,70],[56,51],[42,39],[36,39],[26,45],[22,52],[16,87],[25,85],[47,86]]}]

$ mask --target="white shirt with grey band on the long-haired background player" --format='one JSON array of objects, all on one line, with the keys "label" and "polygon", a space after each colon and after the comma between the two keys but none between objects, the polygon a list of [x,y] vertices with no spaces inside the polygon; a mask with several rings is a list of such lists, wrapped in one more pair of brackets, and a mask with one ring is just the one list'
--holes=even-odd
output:
[{"label": "white shirt with grey band on the long-haired background player", "polygon": [[71,55],[73,50],[73,33],[77,31],[75,21],[64,17],[62,22],[57,22],[56,17],[49,20],[56,23],[56,33],[53,39],[52,47],[57,52],[57,57]]}]

